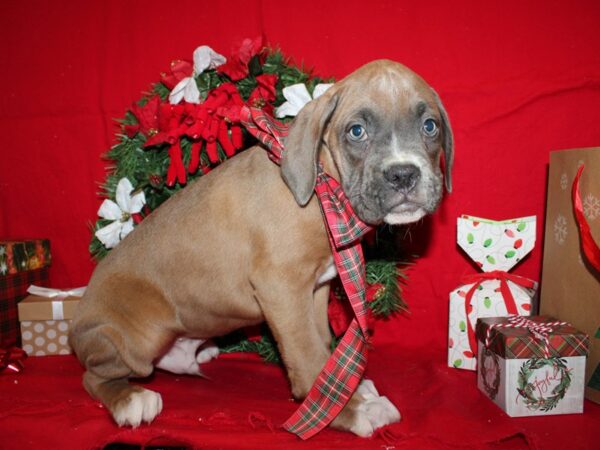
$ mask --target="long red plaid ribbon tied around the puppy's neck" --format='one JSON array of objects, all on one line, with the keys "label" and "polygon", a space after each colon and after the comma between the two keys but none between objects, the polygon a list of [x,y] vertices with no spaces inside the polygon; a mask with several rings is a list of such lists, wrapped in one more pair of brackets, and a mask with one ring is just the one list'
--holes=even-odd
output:
[{"label": "long red plaid ribbon tied around the puppy's neck", "polygon": [[[241,121],[267,147],[271,160],[279,164],[288,127],[264,111],[247,106],[242,108]],[[335,267],[354,318],[303,403],[283,425],[302,439],[317,434],[339,414],[358,387],[367,363],[366,280],[360,240],[371,228],[358,218],[339,183],[321,165],[315,192],[327,224]]]}]

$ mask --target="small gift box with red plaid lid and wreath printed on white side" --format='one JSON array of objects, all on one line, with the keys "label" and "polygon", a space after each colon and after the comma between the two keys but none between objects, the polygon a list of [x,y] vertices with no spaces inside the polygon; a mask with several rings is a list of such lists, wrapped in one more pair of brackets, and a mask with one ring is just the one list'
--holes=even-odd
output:
[{"label": "small gift box with red plaid lid and wreath printed on white side", "polygon": [[583,412],[588,335],[549,316],[477,322],[477,386],[511,417]]}]

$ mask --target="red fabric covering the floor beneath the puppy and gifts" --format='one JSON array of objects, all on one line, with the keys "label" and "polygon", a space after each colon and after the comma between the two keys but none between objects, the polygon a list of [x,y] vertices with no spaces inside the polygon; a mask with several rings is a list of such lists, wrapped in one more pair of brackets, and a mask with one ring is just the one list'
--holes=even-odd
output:
[{"label": "red fabric covering the floor beneath the puppy and gifts", "polygon": [[81,387],[72,356],[32,357],[0,376],[1,448],[92,449],[110,442],[213,449],[596,449],[600,406],[584,414],[509,418],[476,387],[473,372],[445,367],[444,355],[380,346],[369,378],[403,415],[371,439],[325,429],[303,442],[279,426],[296,404],[283,371],[228,355],[204,365],[210,380],[157,372],[144,382],[162,394],[151,424],[119,429]]}]

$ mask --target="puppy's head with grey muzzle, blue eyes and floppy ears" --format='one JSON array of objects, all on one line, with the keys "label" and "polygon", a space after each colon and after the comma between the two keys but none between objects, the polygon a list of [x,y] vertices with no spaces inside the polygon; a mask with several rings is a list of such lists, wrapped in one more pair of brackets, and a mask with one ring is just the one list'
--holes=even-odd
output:
[{"label": "puppy's head with grey muzzle, blue eyes and floppy ears", "polygon": [[298,114],[285,142],[282,176],[308,203],[319,160],[339,175],[359,217],[403,224],[433,212],[446,189],[454,144],[437,94],[401,64],[375,61],[333,85]]}]

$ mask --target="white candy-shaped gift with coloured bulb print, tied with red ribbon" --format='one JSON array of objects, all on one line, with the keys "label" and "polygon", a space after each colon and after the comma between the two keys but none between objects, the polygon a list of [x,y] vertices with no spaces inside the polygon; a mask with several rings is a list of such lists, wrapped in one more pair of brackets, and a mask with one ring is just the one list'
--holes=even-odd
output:
[{"label": "white candy-shaped gift with coloured bulb print, tied with red ribbon", "polygon": [[509,274],[535,246],[536,218],[493,221],[463,215],[457,243],[483,272],[463,278],[450,293],[448,366],[476,370],[475,324],[480,317],[530,315],[537,283]]}]

